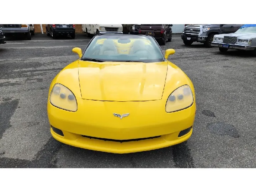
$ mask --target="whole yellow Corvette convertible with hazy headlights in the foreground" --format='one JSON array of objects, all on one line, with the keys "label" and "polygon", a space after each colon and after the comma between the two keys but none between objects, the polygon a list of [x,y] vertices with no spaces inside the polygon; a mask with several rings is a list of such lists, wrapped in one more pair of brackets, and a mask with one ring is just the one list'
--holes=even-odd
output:
[{"label": "whole yellow Corvette convertible with hazy headlights in the foreground", "polygon": [[153,37],[101,35],[53,79],[47,111],[59,142],[110,153],[160,149],[190,138],[194,87]]}]

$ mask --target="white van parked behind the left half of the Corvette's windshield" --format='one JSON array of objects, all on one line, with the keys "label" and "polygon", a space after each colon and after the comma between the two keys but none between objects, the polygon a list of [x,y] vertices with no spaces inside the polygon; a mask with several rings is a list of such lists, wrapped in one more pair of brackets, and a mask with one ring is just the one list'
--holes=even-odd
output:
[{"label": "white van parked behind the left half of the Corvette's windshield", "polygon": [[82,30],[87,33],[87,36],[98,34],[123,34],[122,24],[85,24],[82,25]]}]

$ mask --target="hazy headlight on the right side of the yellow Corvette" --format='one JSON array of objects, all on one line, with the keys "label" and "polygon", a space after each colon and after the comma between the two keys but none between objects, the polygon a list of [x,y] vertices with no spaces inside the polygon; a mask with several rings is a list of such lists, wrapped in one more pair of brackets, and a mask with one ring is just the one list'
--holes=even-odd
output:
[{"label": "hazy headlight on the right side of the yellow Corvette", "polygon": [[174,90],[168,97],[165,105],[167,113],[183,110],[194,102],[193,92],[188,85],[183,85]]}]

